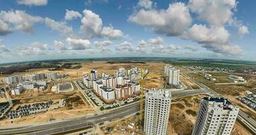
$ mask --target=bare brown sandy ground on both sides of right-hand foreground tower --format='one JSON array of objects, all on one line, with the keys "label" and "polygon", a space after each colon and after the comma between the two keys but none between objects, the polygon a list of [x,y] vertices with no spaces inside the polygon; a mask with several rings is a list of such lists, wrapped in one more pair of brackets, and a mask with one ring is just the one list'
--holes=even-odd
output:
[{"label": "bare brown sandy ground on both sides of right-hand foreground tower", "polygon": [[[190,135],[192,133],[201,97],[205,96],[186,97],[172,101],[169,118],[171,125],[169,126],[168,134]],[[238,134],[249,135],[251,133],[236,121],[232,135]]]}]

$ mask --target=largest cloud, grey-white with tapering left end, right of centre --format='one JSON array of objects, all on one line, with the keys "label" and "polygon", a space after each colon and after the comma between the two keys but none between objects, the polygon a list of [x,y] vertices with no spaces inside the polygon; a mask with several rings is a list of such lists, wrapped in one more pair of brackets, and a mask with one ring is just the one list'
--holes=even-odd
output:
[{"label": "largest cloud, grey-white with tapering left end, right of centre", "polygon": [[140,9],[128,20],[168,36],[182,34],[192,21],[188,7],[181,2],[170,4],[168,9]]}]

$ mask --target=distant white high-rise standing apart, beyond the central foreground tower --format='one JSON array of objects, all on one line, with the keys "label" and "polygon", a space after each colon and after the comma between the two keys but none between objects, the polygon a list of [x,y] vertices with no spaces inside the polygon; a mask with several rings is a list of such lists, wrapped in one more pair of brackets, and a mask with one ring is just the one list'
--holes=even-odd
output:
[{"label": "distant white high-rise standing apart, beyond the central foreground tower", "polygon": [[176,70],[171,65],[165,65],[165,78],[168,84],[180,85],[180,70]]}]

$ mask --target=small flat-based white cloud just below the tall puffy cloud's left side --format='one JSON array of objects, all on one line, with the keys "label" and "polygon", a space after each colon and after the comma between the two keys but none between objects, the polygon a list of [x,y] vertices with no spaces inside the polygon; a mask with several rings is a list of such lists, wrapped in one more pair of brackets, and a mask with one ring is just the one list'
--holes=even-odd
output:
[{"label": "small flat-based white cloud just below the tall puffy cloud's left side", "polygon": [[69,49],[72,50],[84,50],[89,49],[91,42],[84,39],[66,38],[66,42],[70,45]]}]

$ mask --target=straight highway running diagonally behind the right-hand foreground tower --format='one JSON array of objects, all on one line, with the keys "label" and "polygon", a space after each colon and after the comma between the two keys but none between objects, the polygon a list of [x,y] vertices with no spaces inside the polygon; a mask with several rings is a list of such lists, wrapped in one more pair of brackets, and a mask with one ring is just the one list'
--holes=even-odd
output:
[{"label": "straight highway running diagonally behind the right-hand foreground tower", "polygon": [[[211,90],[211,88],[205,86],[204,84],[195,81],[193,78],[190,78],[190,76],[185,74],[182,74],[183,76],[185,76],[188,80],[190,80],[191,82],[194,82],[195,84],[199,85],[201,88],[203,88],[207,93],[209,93],[211,95],[211,97],[223,97],[221,94],[218,94],[217,92],[215,92],[214,90]],[[238,117],[237,117],[238,121],[240,121],[240,123],[245,126],[248,130],[250,130],[253,134],[256,134],[256,121],[254,119],[252,119],[251,117],[249,117],[249,115],[247,115],[246,113],[244,113],[242,110],[240,110],[238,112]]]}]

